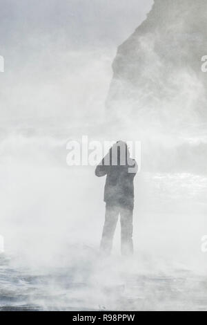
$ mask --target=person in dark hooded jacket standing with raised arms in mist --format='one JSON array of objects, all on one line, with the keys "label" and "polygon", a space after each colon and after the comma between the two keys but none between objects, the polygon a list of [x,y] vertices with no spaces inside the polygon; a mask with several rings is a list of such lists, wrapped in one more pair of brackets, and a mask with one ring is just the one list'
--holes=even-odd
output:
[{"label": "person in dark hooded jacket standing with raised arms in mist", "polygon": [[110,254],[112,240],[120,214],[121,220],[121,254],[133,252],[132,216],[134,209],[134,178],[137,163],[130,158],[125,142],[117,142],[95,170],[98,177],[106,175],[104,201],[106,216],[101,239],[101,250]]}]

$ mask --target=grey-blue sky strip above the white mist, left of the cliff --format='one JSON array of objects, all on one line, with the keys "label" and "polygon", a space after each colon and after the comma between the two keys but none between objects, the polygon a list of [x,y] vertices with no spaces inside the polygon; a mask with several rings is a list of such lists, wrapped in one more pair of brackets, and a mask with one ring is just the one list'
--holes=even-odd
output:
[{"label": "grey-blue sky strip above the white mist, left of the cliff", "polygon": [[[78,46],[119,45],[144,19],[152,0],[1,0],[1,46],[65,32]],[[55,37],[55,36],[54,36]]]}]

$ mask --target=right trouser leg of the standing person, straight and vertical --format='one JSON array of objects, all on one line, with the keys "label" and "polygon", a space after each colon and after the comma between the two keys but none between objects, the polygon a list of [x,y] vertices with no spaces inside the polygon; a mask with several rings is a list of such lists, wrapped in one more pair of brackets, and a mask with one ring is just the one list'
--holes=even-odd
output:
[{"label": "right trouser leg of the standing person, straight and vertical", "polygon": [[133,254],[133,210],[124,207],[120,210],[121,215],[121,254]]}]

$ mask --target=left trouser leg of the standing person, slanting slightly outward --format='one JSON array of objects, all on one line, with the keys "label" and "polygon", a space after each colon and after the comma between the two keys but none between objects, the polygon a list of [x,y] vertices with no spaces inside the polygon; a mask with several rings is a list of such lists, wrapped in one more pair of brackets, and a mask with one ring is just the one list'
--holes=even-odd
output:
[{"label": "left trouser leg of the standing person, slanting slightly outward", "polygon": [[110,254],[110,251],[112,249],[112,241],[115,234],[118,217],[118,207],[115,205],[106,204],[105,223],[103,226],[103,234],[101,239],[101,250],[106,254]]}]

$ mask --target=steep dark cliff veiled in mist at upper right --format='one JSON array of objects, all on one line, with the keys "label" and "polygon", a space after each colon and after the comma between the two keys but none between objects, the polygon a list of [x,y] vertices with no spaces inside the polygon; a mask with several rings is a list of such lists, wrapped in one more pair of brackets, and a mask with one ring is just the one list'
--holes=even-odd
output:
[{"label": "steep dark cliff veiled in mist at upper right", "polygon": [[205,114],[207,1],[155,0],[147,19],[117,50],[108,111]]}]

